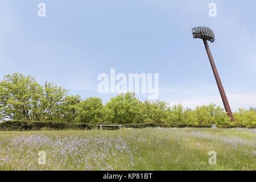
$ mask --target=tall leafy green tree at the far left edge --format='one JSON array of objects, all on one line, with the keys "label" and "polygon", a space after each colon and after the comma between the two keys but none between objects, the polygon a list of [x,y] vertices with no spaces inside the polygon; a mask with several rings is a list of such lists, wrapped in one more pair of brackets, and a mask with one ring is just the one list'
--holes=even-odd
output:
[{"label": "tall leafy green tree at the far left edge", "polygon": [[38,119],[43,88],[34,77],[19,73],[0,82],[0,113],[4,119]]}]

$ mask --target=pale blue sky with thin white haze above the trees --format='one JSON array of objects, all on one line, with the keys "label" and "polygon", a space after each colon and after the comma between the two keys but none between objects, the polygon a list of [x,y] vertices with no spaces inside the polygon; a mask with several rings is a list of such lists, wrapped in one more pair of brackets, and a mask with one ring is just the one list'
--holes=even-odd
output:
[{"label": "pale blue sky with thin white haze above the trees", "polygon": [[255,7],[253,0],[1,0],[0,80],[19,72],[105,104],[117,93],[98,92],[101,73],[158,73],[160,100],[224,107],[203,40],[192,37],[191,28],[207,26],[230,107],[256,107]]}]

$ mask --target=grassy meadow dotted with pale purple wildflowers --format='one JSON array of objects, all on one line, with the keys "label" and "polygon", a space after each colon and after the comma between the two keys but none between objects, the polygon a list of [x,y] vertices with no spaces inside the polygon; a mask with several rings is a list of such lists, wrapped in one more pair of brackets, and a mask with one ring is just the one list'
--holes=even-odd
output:
[{"label": "grassy meadow dotted with pale purple wildflowers", "polygon": [[0,170],[255,170],[255,147],[255,129],[1,131]]}]

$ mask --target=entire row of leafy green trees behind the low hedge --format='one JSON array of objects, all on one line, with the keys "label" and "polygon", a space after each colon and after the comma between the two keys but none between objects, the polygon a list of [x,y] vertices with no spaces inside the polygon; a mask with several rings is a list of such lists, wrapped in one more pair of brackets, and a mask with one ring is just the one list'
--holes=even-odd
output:
[{"label": "entire row of leafy green trees behind the low hedge", "polygon": [[[256,124],[256,111],[253,109],[240,110],[234,113],[234,117],[238,122]],[[214,104],[191,110],[181,105],[170,106],[160,100],[141,102],[134,93],[128,92],[111,98],[103,105],[101,98],[81,100],[78,95],[67,96],[64,88],[47,81],[42,86],[34,77],[20,73],[7,75],[0,82],[0,118],[84,123],[230,123],[224,109]]]}]

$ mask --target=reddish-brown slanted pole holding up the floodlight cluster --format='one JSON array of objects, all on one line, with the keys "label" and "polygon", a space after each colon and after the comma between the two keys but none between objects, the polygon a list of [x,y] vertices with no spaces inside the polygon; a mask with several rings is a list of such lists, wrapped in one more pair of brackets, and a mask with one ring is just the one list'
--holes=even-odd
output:
[{"label": "reddish-brown slanted pole holding up the floodlight cluster", "polygon": [[210,53],[210,48],[208,46],[207,40],[203,39],[203,41],[204,41],[205,49],[207,51],[207,55],[208,55],[209,60],[210,60],[210,65],[212,66],[212,71],[213,71],[215,80],[216,80],[217,85],[218,85],[218,90],[220,90],[220,94],[221,94],[221,98],[222,98],[222,102],[224,104],[225,110],[228,113],[229,117],[231,118],[231,121],[234,122],[233,113],[232,113],[232,110],[230,109],[228,98],[226,98],[224,88],[221,84],[220,76],[218,76],[218,71],[217,71],[216,65],[213,61],[212,53]]}]

